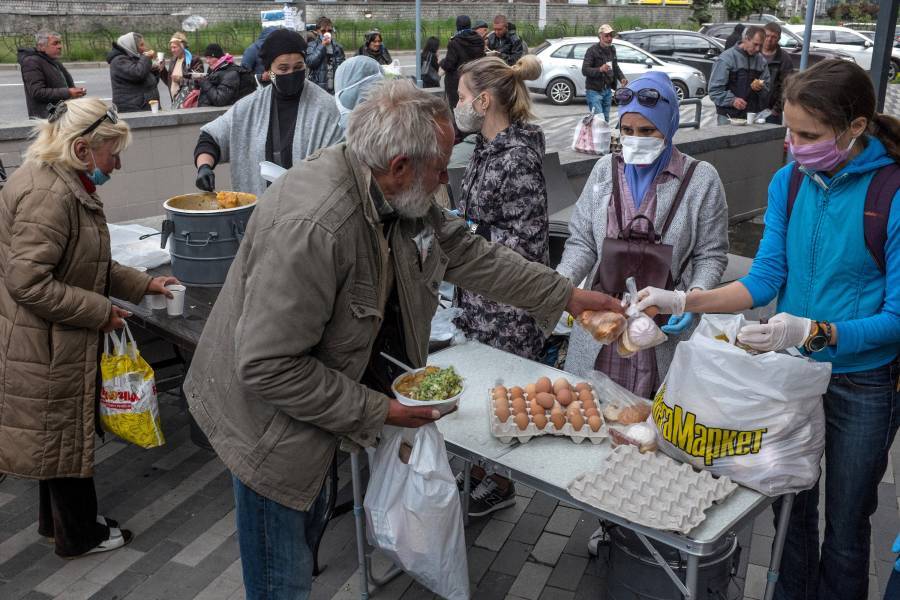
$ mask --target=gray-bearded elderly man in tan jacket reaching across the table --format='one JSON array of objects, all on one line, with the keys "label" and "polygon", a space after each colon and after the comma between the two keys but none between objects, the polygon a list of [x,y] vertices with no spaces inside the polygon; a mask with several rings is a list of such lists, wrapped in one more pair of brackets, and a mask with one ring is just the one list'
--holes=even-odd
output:
[{"label": "gray-bearded elderly man in tan jacket reaching across the table", "polygon": [[307,598],[323,481],[341,441],[439,417],[391,397],[380,352],[420,367],[446,279],[531,312],[615,310],[471,233],[434,204],[453,148],[447,104],[405,80],[371,88],[347,141],[260,198],[185,381],[231,471],[247,598]]}]

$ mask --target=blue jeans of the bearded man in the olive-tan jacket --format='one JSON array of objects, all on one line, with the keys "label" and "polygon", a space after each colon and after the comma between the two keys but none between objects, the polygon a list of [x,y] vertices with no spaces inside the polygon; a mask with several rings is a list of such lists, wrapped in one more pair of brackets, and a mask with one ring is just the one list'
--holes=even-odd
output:
[{"label": "blue jeans of the bearded man in the olive-tan jacket", "polygon": [[234,475],[231,479],[247,600],[306,600],[313,551],[325,525],[325,487],[304,512],[257,494]]}]

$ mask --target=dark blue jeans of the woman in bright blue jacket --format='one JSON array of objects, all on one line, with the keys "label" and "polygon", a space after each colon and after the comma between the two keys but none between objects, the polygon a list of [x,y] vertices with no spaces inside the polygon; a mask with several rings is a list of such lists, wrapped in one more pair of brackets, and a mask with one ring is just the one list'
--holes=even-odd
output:
[{"label": "dark blue jeans of the woman in bright blue jacket", "polygon": [[[825,393],[825,541],[819,552],[819,484],[797,494],[775,598],[866,598],[869,517],[900,424],[900,366],[833,375]],[[777,518],[780,502],[775,503]]]}]

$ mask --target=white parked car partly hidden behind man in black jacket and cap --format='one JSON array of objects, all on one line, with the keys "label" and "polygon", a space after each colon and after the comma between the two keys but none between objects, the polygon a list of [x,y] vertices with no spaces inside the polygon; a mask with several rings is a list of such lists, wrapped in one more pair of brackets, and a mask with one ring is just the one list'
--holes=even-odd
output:
[{"label": "white parked car partly hidden behind man in black jacket and cap", "polygon": [[[528,81],[528,89],[546,94],[554,104],[569,104],[585,95],[581,63],[588,48],[597,43],[595,37],[567,37],[547,40],[532,53],[541,61],[541,76]],[[706,78],[699,70],[679,63],[664,62],[634,44],[613,40],[619,68],[630,81],[650,70],[666,73],[675,84],[678,99],[702,98],[706,95]]]}]

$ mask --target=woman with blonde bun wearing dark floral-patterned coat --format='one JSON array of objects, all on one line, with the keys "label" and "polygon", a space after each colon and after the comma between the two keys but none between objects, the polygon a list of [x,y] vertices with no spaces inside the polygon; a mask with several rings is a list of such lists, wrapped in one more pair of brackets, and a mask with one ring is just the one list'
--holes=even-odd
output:
[{"label": "woman with blonde bun wearing dark floral-patterned coat", "polygon": [[[525,55],[512,67],[497,57],[480,58],[460,69],[456,125],[477,133],[457,208],[472,230],[529,260],[548,264],[550,233],[547,189],[541,170],[544,133],[533,119],[525,81],[537,79],[541,64]],[[544,336],[525,311],[459,290],[463,313],[456,325],[480,342],[536,360]],[[516,502],[513,482],[482,468],[472,469],[476,484],[469,515],[487,515]]]}]

